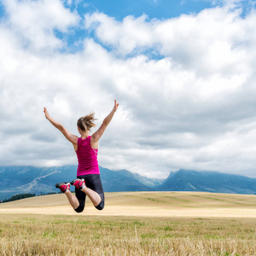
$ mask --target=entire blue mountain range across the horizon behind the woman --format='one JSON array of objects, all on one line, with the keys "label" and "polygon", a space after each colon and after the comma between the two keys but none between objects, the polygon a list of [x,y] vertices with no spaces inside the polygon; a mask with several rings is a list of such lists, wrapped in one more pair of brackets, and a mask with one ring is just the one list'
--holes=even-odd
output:
[{"label": "entire blue mountain range across the horizon behind the woman", "polygon": [[[72,181],[77,166],[0,166],[0,200],[15,194],[58,193],[55,183]],[[166,179],[143,177],[126,170],[112,171],[100,166],[105,192],[119,191],[205,191],[256,195],[256,178],[220,172],[179,170]]]}]

